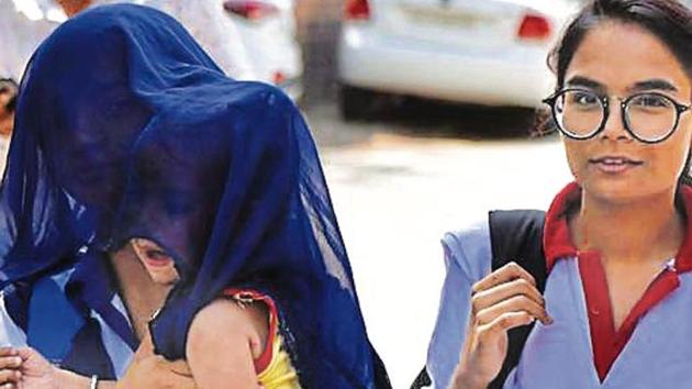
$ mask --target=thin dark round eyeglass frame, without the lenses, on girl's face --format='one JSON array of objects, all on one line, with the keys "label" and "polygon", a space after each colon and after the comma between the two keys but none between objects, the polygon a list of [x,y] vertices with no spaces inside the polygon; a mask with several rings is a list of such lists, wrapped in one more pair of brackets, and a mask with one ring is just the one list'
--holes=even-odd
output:
[{"label": "thin dark round eyeglass frame, without the lenses, on girl's face", "polygon": [[[557,113],[556,113],[556,102],[558,100],[558,98],[569,91],[582,91],[582,92],[588,92],[593,95],[594,97],[596,97],[599,99],[599,101],[601,102],[601,107],[603,107],[603,118],[601,119],[601,123],[599,124],[599,126],[592,131],[589,135],[587,136],[576,136],[569,132],[567,132],[565,129],[562,129],[562,126],[560,125],[558,119],[557,119]],[[638,136],[634,131],[632,131],[632,129],[629,127],[629,122],[627,120],[627,104],[629,103],[629,101],[632,101],[633,99],[639,97],[639,96],[645,96],[645,95],[655,95],[655,96],[659,96],[662,97],[667,100],[669,100],[670,102],[672,102],[673,107],[676,108],[676,122],[673,123],[672,127],[668,131],[668,133],[663,136],[661,136],[660,138],[654,140],[654,141],[649,141],[649,140],[644,140],[640,136]],[[625,131],[632,135],[632,137],[634,137],[635,140],[641,142],[641,143],[646,143],[646,144],[656,144],[656,143],[661,143],[663,141],[666,141],[667,138],[669,138],[670,136],[672,136],[672,134],[676,132],[676,130],[678,130],[678,125],[680,124],[680,116],[684,113],[688,112],[691,108],[691,105],[685,105],[681,102],[678,102],[676,99],[671,98],[670,96],[666,95],[666,93],[661,93],[661,92],[657,92],[657,91],[650,91],[650,92],[637,92],[634,95],[630,95],[626,98],[621,98],[618,96],[613,96],[615,99],[620,100],[620,114],[621,114],[621,120],[623,122],[623,127],[625,127]],[[611,96],[607,95],[599,95],[598,92],[590,90],[590,89],[585,89],[585,88],[565,88],[565,89],[560,89],[556,92],[554,92],[553,95],[550,95],[549,97],[545,98],[542,100],[545,104],[548,104],[548,107],[550,107],[550,113],[553,115],[553,120],[555,120],[555,124],[557,125],[558,130],[560,131],[560,133],[562,133],[565,136],[571,138],[571,140],[576,140],[576,141],[588,141],[594,136],[596,136],[599,133],[601,133],[603,130],[605,130],[605,124],[607,123],[607,120],[611,115]]]}]

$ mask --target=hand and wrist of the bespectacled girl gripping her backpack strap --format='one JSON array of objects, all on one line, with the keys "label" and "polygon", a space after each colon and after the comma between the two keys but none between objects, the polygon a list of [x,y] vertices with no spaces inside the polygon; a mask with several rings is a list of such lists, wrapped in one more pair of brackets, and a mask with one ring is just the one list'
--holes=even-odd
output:
[{"label": "hand and wrist of the bespectacled girl gripping her backpack strap", "polygon": [[535,320],[553,323],[536,281],[510,263],[472,289],[469,329],[451,388],[485,388],[500,373],[507,353],[507,330]]}]

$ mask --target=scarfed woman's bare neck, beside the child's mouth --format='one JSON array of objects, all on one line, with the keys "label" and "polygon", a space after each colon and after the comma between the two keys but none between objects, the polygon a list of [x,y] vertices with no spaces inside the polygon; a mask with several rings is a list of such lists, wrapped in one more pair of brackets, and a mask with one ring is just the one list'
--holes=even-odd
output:
[{"label": "scarfed woman's bare neck, beside the child's mouth", "polygon": [[112,253],[110,259],[120,297],[137,337],[142,340],[152,315],[164,305],[171,288],[152,280],[130,245]]}]

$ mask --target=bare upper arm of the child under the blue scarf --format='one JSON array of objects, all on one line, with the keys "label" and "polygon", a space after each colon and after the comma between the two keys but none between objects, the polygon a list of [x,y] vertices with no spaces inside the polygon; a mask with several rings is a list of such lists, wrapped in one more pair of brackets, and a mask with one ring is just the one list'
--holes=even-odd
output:
[{"label": "bare upper arm of the child under the blue scarf", "polygon": [[198,388],[257,388],[254,360],[266,347],[269,326],[261,307],[219,299],[194,316],[187,357]]}]

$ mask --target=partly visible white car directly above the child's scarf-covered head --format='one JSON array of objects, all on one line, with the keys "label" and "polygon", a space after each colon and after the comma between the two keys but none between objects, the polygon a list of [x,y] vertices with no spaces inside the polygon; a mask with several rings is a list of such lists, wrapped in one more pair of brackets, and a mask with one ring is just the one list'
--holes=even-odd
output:
[{"label": "partly visible white car directly above the child's scarf-covered head", "polygon": [[254,78],[300,99],[303,62],[295,38],[294,0],[226,0],[223,8],[239,33]]}]

